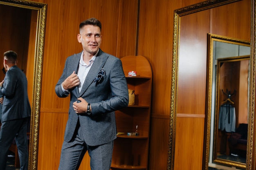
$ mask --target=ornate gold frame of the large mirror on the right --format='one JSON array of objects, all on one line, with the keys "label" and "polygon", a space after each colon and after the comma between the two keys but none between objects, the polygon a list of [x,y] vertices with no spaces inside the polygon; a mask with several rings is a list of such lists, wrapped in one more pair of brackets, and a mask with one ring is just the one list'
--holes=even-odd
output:
[{"label": "ornate gold frame of the large mirror on the right", "polygon": [[[219,7],[225,4],[236,2],[239,0],[207,0],[200,2],[198,4],[191,5],[189,7],[184,7],[182,9],[177,9],[174,11],[174,28],[173,28],[173,63],[172,63],[172,79],[171,79],[171,111],[170,111],[170,126],[169,126],[169,138],[168,138],[168,160],[167,169],[174,169],[174,155],[175,155],[175,128],[176,128],[176,112],[177,112],[177,74],[178,74],[178,61],[179,61],[179,34],[180,34],[180,17],[184,15],[189,15],[191,13],[196,13],[199,11],[211,9],[214,7]],[[247,170],[252,170],[255,168],[255,152],[256,148],[254,146],[254,107],[255,107],[255,53],[256,53],[256,40],[255,40],[255,30],[256,30],[256,2],[252,0],[252,28],[251,28],[251,59],[250,59],[250,91],[249,98],[251,98],[250,108],[249,108],[249,122],[248,128],[250,133],[248,134],[247,143]],[[207,92],[209,93],[209,92]],[[209,120],[209,115],[206,115],[206,119]],[[207,121],[206,120],[206,121]],[[208,124],[208,126],[210,126]],[[205,127],[208,129],[209,127]],[[203,155],[203,168],[208,169],[209,155],[206,154],[206,150],[209,150],[209,135],[210,132],[206,130],[204,133],[204,155]],[[208,136],[208,137],[207,137]]]}]

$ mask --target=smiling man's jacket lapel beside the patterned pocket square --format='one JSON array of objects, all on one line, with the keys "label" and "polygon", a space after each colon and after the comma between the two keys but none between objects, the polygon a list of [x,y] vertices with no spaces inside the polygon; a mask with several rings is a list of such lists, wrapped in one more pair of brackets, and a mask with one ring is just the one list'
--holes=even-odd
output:
[{"label": "smiling man's jacket lapel beside the patterned pocket square", "polygon": [[88,87],[93,83],[94,78],[99,74],[99,71],[101,70],[101,68],[103,68],[107,59],[108,56],[100,50],[98,56],[92,64],[90,71],[88,72],[85,78],[79,97],[81,97],[86,91],[86,89],[88,89]]}]

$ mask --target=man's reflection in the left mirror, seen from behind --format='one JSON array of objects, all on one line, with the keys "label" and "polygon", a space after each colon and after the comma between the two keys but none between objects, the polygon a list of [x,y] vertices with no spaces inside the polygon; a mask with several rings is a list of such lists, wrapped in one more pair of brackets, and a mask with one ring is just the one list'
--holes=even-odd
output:
[{"label": "man's reflection in the left mirror, seen from behind", "polygon": [[0,170],[6,168],[8,149],[14,138],[20,158],[20,170],[28,169],[27,124],[31,107],[27,96],[27,77],[16,64],[16,52],[4,52],[4,68],[7,72],[0,82],[0,95],[4,97],[0,129]]}]

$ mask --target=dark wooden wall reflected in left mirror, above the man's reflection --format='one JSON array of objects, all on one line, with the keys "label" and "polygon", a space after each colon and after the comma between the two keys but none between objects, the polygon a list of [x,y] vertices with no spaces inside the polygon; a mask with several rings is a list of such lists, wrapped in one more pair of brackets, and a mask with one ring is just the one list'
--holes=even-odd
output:
[{"label": "dark wooden wall reflected in left mirror, above the man's reflection", "polygon": [[[17,66],[27,76],[30,103],[32,101],[34,73],[35,42],[33,41],[35,39],[33,38],[36,35],[34,22],[37,20],[37,13],[34,15],[31,13],[34,14],[30,9],[0,5],[0,81],[4,79],[3,54],[8,50],[13,50],[18,54]],[[32,31],[30,32],[30,30]]]}]

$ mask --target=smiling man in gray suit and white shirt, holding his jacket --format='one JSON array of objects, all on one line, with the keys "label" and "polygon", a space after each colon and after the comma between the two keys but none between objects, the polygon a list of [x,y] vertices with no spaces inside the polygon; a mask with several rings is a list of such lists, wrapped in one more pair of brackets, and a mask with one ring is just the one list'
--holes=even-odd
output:
[{"label": "smiling man in gray suit and white shirt, holding his jacket", "polygon": [[128,87],[121,60],[100,49],[101,22],[81,22],[83,51],[67,58],[55,92],[70,94],[69,118],[59,170],[78,170],[88,151],[92,170],[109,170],[114,139],[115,111],[128,106]]}]

